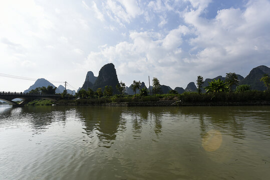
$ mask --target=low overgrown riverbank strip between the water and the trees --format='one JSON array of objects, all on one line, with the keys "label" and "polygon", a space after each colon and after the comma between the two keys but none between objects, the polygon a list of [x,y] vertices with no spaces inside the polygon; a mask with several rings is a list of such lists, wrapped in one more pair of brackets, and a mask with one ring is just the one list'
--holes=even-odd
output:
[{"label": "low overgrown riverbank strip between the water and the trees", "polygon": [[27,105],[93,105],[93,106],[209,106],[209,105],[270,105],[270,93],[263,91],[218,92],[198,94],[157,94],[156,96],[104,96],[61,99],[56,102],[34,100]]}]

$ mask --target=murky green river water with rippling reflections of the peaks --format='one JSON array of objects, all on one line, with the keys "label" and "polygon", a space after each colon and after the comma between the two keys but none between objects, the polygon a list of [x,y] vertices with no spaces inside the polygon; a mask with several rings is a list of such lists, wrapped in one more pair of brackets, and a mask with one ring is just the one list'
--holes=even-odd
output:
[{"label": "murky green river water with rippling reflections of the peaks", "polygon": [[270,106],[0,106],[0,179],[269,179]]}]

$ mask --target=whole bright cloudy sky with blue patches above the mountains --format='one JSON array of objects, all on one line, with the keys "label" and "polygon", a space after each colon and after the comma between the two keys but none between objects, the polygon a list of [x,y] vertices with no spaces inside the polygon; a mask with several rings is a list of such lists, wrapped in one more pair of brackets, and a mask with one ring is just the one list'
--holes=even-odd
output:
[{"label": "whole bright cloudy sky with blue patches above the mountains", "polygon": [[[270,66],[270,0],[1,0],[0,73],[75,90],[112,62],[118,79],[246,76]],[[0,76],[0,91],[35,81]]]}]

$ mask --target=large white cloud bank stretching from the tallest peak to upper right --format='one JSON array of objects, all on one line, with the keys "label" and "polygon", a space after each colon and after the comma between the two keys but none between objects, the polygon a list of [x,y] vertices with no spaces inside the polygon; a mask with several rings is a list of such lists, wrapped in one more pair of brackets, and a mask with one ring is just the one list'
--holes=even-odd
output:
[{"label": "large white cloud bank stretching from the tallest peak to upper right", "polygon": [[[126,74],[143,80],[147,72],[151,72],[150,75],[158,76],[161,83],[185,87],[197,75],[215,77],[229,71],[237,72],[235,68],[241,63],[253,63],[254,67],[256,58],[270,56],[269,13],[265,12],[270,7],[268,1],[250,1],[242,10],[220,9],[216,17],[206,19],[201,13],[209,2],[191,1],[193,8],[183,13],[187,25],[179,25],[165,34],[152,30],[130,31],[131,42],[123,41],[106,46],[100,52],[91,52],[88,67],[92,69],[95,64],[99,69],[104,63],[113,62],[118,77],[127,84],[132,80]],[[158,3],[152,6],[156,10],[161,9]],[[190,46],[188,49],[186,44]]]}]

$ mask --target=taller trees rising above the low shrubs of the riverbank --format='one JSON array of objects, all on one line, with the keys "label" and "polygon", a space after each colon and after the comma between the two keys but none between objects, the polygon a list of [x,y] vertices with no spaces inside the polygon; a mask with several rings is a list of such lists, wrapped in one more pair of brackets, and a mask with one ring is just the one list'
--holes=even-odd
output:
[{"label": "taller trees rising above the low shrubs of the riverbank", "polygon": [[[270,87],[270,78],[268,76],[268,74],[264,74],[260,81],[262,81],[264,83],[264,85],[266,86],[266,90],[265,91],[269,91],[269,87]],[[202,89],[204,88],[206,90],[205,93],[209,93],[209,92],[245,92],[245,91],[250,91],[250,86],[247,84],[241,84],[238,85],[239,80],[238,77],[236,75],[235,72],[229,72],[226,73],[226,77],[225,77],[225,81],[217,79],[217,80],[212,80],[211,82],[208,83],[208,86],[202,87],[204,83],[203,77],[202,76],[198,76],[197,80],[196,80],[196,84],[197,84],[197,92],[201,95],[202,94]],[[133,80],[133,83],[131,84],[131,88],[134,91],[134,96],[136,96],[136,92],[137,90],[139,90],[139,95],[140,96],[147,96],[147,95],[154,95],[156,96],[156,94],[161,92],[161,88],[160,88],[160,82],[158,80],[158,78],[154,77],[152,80],[152,89],[149,91],[146,86],[141,87],[141,82]],[[235,90],[232,90],[233,85],[236,85]],[[123,83],[122,81],[116,86],[116,88],[119,91],[120,95],[127,95],[125,93],[125,83]],[[178,94],[178,92],[176,90],[170,90],[168,92],[168,94]],[[79,98],[94,98],[94,97],[102,97],[102,96],[112,96],[112,86],[105,86],[104,91],[102,92],[102,88],[98,88],[96,92],[94,92],[91,88],[88,88],[88,90],[85,89],[81,89],[79,90],[78,93],[76,93],[76,97]]]}]

